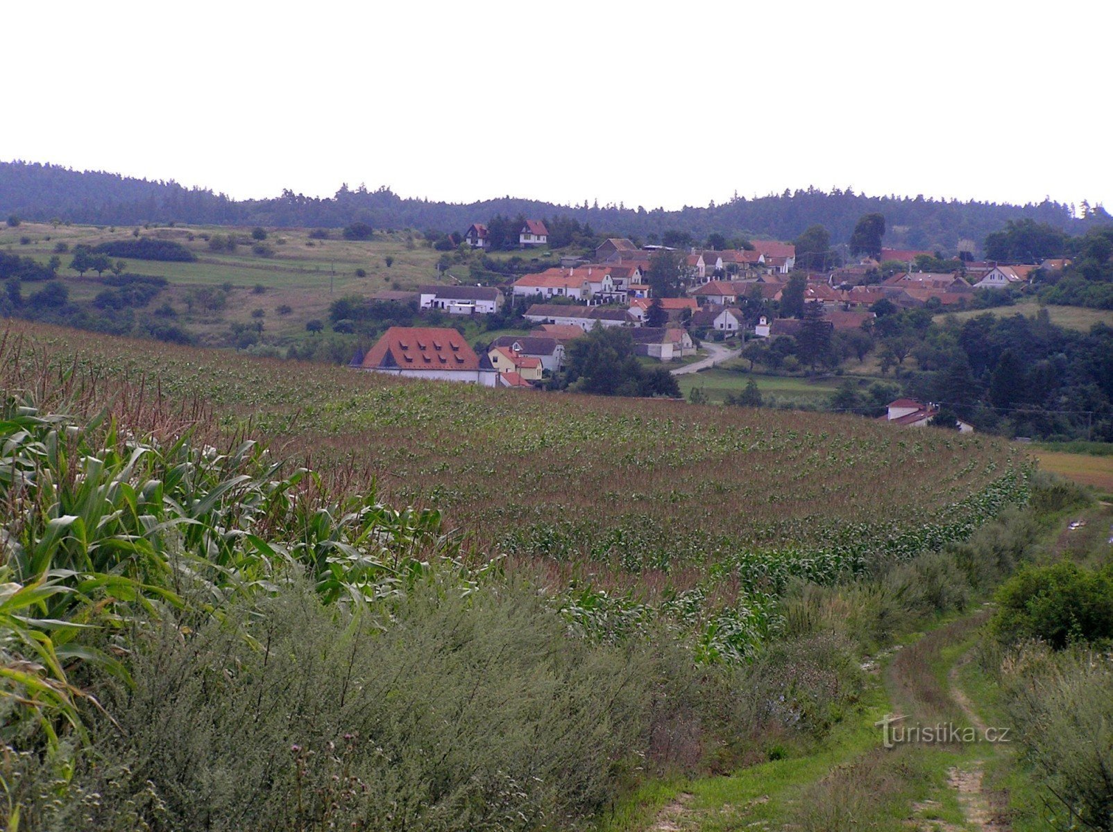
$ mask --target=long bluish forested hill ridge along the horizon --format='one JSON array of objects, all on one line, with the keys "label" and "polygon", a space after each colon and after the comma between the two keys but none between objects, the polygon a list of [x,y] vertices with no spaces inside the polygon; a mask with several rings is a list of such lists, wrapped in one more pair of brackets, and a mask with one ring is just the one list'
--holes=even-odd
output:
[{"label": "long bluish forested hill ridge along the horizon", "polygon": [[1100,206],[1085,206],[1085,219],[1074,217],[1073,206],[1045,200],[1038,205],[959,202],[923,197],[867,197],[853,190],[788,191],[755,199],[737,197],[723,205],[661,208],[599,206],[584,202],[560,206],[504,197],[470,205],[404,199],[388,188],[368,191],[342,187],[334,197],[305,197],[284,190],[274,199],[229,199],[223,194],[184,188],[174,181],[131,179],[117,174],[77,171],[22,161],[0,162],[0,212],[26,219],[53,218],[95,225],[189,222],[263,226],[339,227],[359,220],[377,228],[463,231],[472,222],[494,215],[550,218],[572,217],[597,231],[647,239],[669,229],[703,238],[712,231],[728,236],[768,236],[795,239],[811,225],[823,225],[836,241],[849,238],[857,219],[869,212],[885,215],[887,245],[953,250],[959,239],[981,242],[1009,219],[1031,218],[1071,234],[1082,234],[1096,222],[1111,221]]}]

